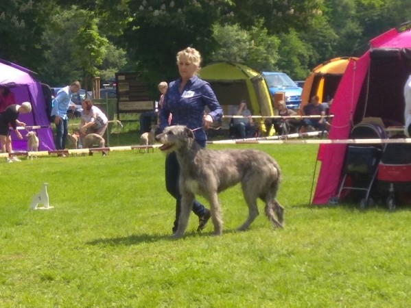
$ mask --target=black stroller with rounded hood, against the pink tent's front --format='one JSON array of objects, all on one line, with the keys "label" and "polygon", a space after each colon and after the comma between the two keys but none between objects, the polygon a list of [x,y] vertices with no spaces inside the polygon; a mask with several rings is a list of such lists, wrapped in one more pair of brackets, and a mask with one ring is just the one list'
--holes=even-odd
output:
[{"label": "black stroller with rounded hood, against the pink tent's front", "polygon": [[[351,129],[350,138],[385,139],[386,132],[384,127],[375,123],[359,123]],[[347,146],[344,159],[344,175],[338,190],[337,200],[340,200],[343,190],[355,190],[366,193],[360,201],[362,209],[368,205],[373,205],[374,201],[373,198],[370,198],[370,194],[377,175],[377,167],[383,148],[383,144],[355,144]]]}]

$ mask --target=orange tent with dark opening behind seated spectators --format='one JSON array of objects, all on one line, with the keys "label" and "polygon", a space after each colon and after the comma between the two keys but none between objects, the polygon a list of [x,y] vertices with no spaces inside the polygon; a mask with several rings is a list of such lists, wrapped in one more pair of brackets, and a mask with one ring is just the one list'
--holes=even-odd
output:
[{"label": "orange tent with dark opening behind seated spectators", "polygon": [[309,103],[309,98],[313,95],[318,95],[320,102],[332,99],[350,60],[357,60],[357,57],[336,57],[314,68],[305,79],[300,109]]}]

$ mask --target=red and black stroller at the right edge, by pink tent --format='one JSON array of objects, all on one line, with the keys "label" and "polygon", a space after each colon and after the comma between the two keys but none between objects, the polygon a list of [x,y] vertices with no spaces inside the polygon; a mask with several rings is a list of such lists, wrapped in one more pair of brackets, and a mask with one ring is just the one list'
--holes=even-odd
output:
[{"label": "red and black stroller at the right edge, by pink tent", "polygon": [[388,193],[386,206],[393,210],[397,192],[411,191],[411,144],[388,143],[378,166],[378,188]]}]

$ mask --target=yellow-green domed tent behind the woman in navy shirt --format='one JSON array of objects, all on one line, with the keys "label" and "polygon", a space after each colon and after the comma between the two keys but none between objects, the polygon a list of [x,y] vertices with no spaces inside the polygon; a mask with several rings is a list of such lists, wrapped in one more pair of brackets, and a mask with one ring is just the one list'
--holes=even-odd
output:
[{"label": "yellow-green domed tent behind the woman in navy shirt", "polygon": [[[252,68],[232,62],[213,62],[201,68],[198,77],[209,82],[225,115],[232,114],[233,107],[241,99],[248,101],[253,116],[274,115],[266,81]],[[266,132],[262,119],[256,123],[259,123],[261,131]]]}]

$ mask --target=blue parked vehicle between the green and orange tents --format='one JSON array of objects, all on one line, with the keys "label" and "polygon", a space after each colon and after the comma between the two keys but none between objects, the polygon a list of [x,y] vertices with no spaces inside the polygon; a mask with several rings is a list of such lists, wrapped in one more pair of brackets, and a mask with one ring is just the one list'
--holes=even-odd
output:
[{"label": "blue parked vehicle between the green and orange tents", "polygon": [[285,92],[285,104],[289,109],[298,109],[301,104],[301,92],[303,88],[285,73],[280,72],[262,72],[271,95],[275,92]]}]

